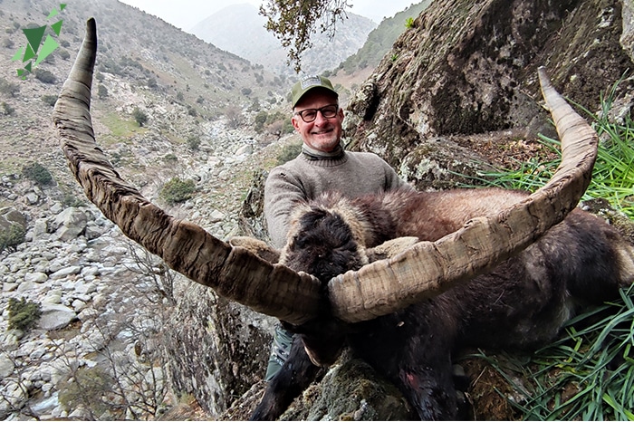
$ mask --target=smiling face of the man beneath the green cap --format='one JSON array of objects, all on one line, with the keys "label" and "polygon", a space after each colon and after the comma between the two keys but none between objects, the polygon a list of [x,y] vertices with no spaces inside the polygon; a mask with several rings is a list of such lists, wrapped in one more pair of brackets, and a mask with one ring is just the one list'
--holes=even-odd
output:
[{"label": "smiling face of the man beneath the green cap", "polygon": [[332,104],[337,104],[337,99],[331,92],[313,89],[306,92],[293,109],[293,127],[300,133],[303,142],[312,149],[330,152],[337,148],[341,139],[343,110],[338,110],[331,119],[325,119],[322,113],[318,112],[315,120],[309,123],[303,121],[297,112],[307,109],[321,109]]}]

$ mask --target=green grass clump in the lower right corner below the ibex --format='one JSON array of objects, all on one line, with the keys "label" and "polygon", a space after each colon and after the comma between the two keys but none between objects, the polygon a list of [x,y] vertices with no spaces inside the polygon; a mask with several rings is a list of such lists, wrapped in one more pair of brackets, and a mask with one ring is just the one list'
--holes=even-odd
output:
[{"label": "green grass clump in the lower right corner below the ibex", "polygon": [[[567,336],[527,363],[489,362],[524,400],[509,400],[524,420],[634,420],[634,287],[620,299],[569,321]],[[528,380],[518,385],[518,372]]]}]

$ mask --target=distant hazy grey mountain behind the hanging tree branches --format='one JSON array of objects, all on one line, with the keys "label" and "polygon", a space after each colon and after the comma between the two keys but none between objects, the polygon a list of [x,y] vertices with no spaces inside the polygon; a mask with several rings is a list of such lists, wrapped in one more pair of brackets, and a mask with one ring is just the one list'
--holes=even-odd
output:
[{"label": "distant hazy grey mountain behind the hanging tree branches", "polygon": [[[264,69],[279,74],[294,75],[293,65],[286,64],[286,51],[275,36],[264,28],[266,18],[255,5],[230,5],[196,24],[192,34],[207,43],[235,53]],[[358,14],[338,22],[336,34],[316,34],[312,48],[303,54],[302,67],[307,73],[333,69],[348,56],[356,53],[377,24]]]}]

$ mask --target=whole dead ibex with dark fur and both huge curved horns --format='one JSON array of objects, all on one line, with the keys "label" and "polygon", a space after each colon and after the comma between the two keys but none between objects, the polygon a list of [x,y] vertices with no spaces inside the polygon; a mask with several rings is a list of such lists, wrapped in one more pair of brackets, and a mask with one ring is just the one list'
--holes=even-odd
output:
[{"label": "whole dead ibex with dark fur and both huge curved horns", "polygon": [[[610,298],[619,284],[632,281],[632,248],[609,225],[572,211],[590,183],[597,136],[543,70],[544,99],[562,141],[562,165],[544,187],[530,196],[488,190],[394,193],[348,203],[327,197],[298,215],[283,250],[285,264],[272,264],[168,216],[119,177],[91,127],[96,51],[91,19],[53,111],[62,149],[86,196],[174,270],[301,332],[303,347],[293,345],[292,359],[307,363],[308,372],[314,367],[304,349],[327,364],[346,341],[400,386],[419,417],[452,418],[447,365],[455,348],[524,347],[550,339],[573,299]],[[450,211],[460,211],[457,204],[465,212],[452,216]],[[347,216],[339,214],[343,210]],[[418,241],[368,264],[365,248],[404,235]],[[333,243],[316,254],[323,245],[314,241],[323,239]],[[323,323],[335,330],[322,329]],[[310,379],[308,372],[300,383]],[[282,370],[271,383],[255,417],[283,410],[287,398],[280,398],[279,388],[296,385],[293,379],[285,384],[284,374],[288,378]]]}]

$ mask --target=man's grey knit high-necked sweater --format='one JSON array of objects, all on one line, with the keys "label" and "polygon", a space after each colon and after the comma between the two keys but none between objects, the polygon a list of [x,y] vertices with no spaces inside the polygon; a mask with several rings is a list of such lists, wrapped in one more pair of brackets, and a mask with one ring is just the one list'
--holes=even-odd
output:
[{"label": "man's grey knit high-necked sweater", "polygon": [[310,159],[302,153],[271,170],[266,179],[264,216],[273,245],[286,245],[289,218],[297,201],[333,190],[352,198],[398,187],[409,185],[376,154],[345,151],[339,158]]}]

